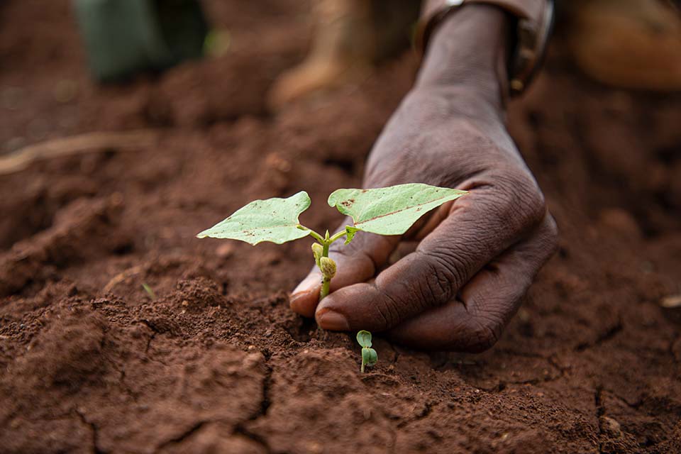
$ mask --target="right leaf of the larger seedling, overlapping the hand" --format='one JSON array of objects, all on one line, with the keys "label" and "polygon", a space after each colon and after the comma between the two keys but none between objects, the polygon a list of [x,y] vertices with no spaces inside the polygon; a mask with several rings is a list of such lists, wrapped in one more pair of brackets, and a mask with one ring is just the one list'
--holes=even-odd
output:
[{"label": "right leaf of the larger seedling, overlapping the hand", "polygon": [[357,230],[402,235],[431,209],[464,194],[467,192],[458,189],[410,183],[378,189],[336,189],[328,196],[328,204],[352,216]]}]

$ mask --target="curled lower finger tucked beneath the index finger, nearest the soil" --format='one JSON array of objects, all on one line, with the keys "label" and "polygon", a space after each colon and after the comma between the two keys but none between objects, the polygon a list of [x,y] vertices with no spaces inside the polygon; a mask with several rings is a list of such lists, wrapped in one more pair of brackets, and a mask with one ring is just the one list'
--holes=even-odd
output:
[{"label": "curled lower finger tucked beneath the index finger, nearest the soil", "polygon": [[515,245],[461,289],[458,298],[390,330],[397,343],[424,350],[480,352],[497,342],[541,266],[555,251],[550,216],[528,240]]}]

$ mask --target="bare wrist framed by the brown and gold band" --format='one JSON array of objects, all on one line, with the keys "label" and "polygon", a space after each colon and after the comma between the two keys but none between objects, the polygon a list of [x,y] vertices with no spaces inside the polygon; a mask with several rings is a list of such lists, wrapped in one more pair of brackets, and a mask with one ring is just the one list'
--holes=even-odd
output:
[{"label": "bare wrist framed by the brown and gold band", "polygon": [[467,4],[433,30],[414,90],[465,92],[501,110],[507,95],[509,18],[495,6]]}]

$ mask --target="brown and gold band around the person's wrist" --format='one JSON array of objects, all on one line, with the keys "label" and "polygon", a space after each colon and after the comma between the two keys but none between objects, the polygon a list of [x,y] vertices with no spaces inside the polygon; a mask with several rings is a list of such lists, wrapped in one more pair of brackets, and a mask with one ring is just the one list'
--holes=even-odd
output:
[{"label": "brown and gold band around the person's wrist", "polygon": [[428,0],[424,2],[414,44],[425,52],[433,30],[466,4],[497,6],[516,18],[515,43],[508,62],[509,93],[520,94],[541,65],[553,25],[553,0]]}]

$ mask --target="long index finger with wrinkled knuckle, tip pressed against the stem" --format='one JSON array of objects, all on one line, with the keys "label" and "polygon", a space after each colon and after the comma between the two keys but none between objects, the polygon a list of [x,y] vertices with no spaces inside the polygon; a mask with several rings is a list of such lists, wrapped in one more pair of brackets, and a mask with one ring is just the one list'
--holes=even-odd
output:
[{"label": "long index finger with wrinkled knuckle, tip pressed against the stem", "polygon": [[374,283],[343,287],[323,299],[315,314],[319,326],[384,331],[454,299],[485,264],[546,215],[543,200],[533,199],[533,192],[503,184],[498,177],[459,199],[415,253],[381,272]]}]

